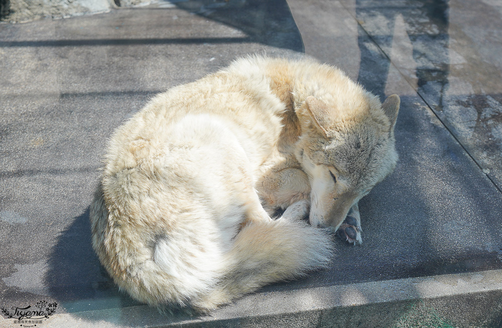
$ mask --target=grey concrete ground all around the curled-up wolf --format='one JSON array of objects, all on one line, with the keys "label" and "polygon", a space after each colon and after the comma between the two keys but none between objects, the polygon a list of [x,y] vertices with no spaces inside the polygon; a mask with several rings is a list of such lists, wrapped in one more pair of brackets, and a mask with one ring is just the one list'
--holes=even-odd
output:
[{"label": "grey concrete ground all around the curled-up wolf", "polygon": [[[489,0],[172,1],[0,24],[0,306],[57,302],[42,327],[502,327],[500,31]],[[120,293],[88,224],[110,132],[237,56],[304,52],[402,99],[363,244],[334,239],[330,269],[203,317]]]}]

